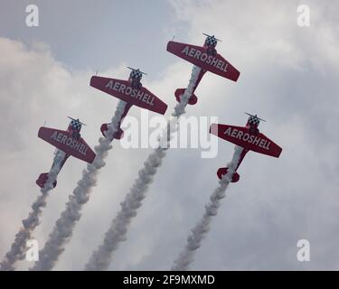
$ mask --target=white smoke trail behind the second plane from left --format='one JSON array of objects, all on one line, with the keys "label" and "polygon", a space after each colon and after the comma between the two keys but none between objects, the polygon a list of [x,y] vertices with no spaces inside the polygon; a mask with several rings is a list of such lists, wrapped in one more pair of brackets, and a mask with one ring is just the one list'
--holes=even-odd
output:
[{"label": "white smoke trail behind the second plane from left", "polygon": [[61,217],[56,221],[49,239],[39,253],[39,261],[35,263],[31,270],[51,270],[64,251],[66,243],[70,240],[73,228],[80,219],[80,210],[89,200],[90,191],[96,185],[99,169],[105,166],[105,158],[112,148],[112,135],[118,131],[118,124],[126,107],[125,101],[119,101],[118,107],[105,137],[99,138],[99,145],[95,147],[96,158],[93,163],[87,165],[87,169],[82,172],[82,178],[78,186],[73,190],[66,203],[66,209],[61,213]]}]

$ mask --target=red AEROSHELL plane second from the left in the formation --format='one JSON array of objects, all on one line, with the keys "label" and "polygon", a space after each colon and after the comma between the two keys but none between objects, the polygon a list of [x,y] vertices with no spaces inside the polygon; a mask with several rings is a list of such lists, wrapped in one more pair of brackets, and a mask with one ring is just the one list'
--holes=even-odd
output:
[{"label": "red AEROSHELL plane second from the left in the formation", "polygon": [[[165,114],[167,105],[160,98],[157,98],[152,92],[144,88],[141,84],[143,71],[132,70],[129,74],[128,80],[121,79],[109,79],[99,76],[92,76],[90,79],[90,86],[101,91],[108,93],[109,95],[119,98],[126,102],[124,113],[121,117],[121,121],[118,124],[118,131],[113,135],[113,138],[120,139],[124,135],[124,131],[120,128],[121,122],[126,117],[127,112],[133,105],[137,107],[143,107],[148,110],[157,112],[161,115]],[[102,135],[108,130],[109,124],[103,124],[100,127]]]}]

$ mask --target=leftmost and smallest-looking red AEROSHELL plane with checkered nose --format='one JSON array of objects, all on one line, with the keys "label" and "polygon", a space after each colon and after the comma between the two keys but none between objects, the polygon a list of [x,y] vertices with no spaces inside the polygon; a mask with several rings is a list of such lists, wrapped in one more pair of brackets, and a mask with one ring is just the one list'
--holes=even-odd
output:
[{"label": "leftmost and smallest-looking red AEROSHELL plane with checkered nose", "polygon": [[[84,124],[82,124],[79,119],[71,118],[71,123],[67,130],[59,130],[44,126],[39,129],[38,136],[57,148],[54,153],[52,169],[56,169],[58,174],[70,155],[87,163],[92,163],[94,161],[96,154],[90,149],[89,144],[86,144],[80,136],[82,125]],[[61,162],[57,162],[59,158],[61,158]],[[36,180],[36,184],[43,188],[47,180],[48,172],[43,172],[40,174],[38,180]],[[55,180],[55,182],[53,182],[54,188],[56,184],[57,181]]]}]

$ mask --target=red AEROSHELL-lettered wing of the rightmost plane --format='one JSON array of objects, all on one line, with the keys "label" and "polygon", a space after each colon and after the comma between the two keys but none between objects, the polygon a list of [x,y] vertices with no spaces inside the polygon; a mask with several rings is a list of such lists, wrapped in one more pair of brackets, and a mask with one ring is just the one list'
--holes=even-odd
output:
[{"label": "red AEROSHELL-lettered wing of the rightmost plane", "polygon": [[247,127],[212,124],[210,133],[259,154],[279,157],[282,151],[282,148],[266,135],[261,133],[259,135],[250,134]]}]

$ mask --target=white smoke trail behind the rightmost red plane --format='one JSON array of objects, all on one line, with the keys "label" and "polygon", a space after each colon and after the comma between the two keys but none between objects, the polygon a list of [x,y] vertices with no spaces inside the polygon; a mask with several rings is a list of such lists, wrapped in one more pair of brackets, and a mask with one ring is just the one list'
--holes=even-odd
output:
[{"label": "white smoke trail behind the rightmost red plane", "polygon": [[210,197],[211,201],[205,206],[205,211],[203,213],[202,219],[200,219],[200,221],[191,230],[191,234],[187,238],[187,243],[184,247],[184,250],[174,261],[174,265],[172,266],[171,270],[185,271],[193,262],[195,252],[201,246],[202,239],[206,237],[207,233],[210,230],[212,217],[217,214],[220,207],[221,199],[226,196],[225,191],[227,190],[229,183],[231,182],[231,177],[233,172],[235,172],[237,164],[240,160],[241,152],[242,147],[236,145],[234,147],[234,154],[231,159],[231,163],[227,164],[227,167],[229,168],[228,172],[223,175],[222,179],[219,181],[219,186],[212,192],[212,195]]}]

